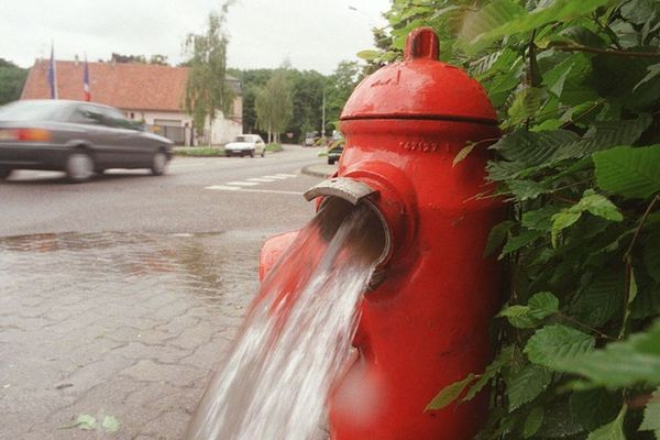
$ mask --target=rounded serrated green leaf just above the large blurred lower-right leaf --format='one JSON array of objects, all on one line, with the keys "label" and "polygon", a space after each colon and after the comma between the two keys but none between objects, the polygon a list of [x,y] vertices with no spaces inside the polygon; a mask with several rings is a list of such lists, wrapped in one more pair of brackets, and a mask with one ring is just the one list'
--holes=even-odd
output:
[{"label": "rounded serrated green leaf just above the large blurred lower-right leaf", "polygon": [[524,352],[535,364],[557,370],[568,361],[593,350],[593,337],[562,324],[546,326],[527,341]]}]

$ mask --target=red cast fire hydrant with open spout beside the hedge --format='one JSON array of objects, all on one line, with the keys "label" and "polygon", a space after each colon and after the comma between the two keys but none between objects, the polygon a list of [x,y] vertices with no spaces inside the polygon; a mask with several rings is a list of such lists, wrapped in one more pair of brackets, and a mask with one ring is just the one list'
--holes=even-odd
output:
[{"label": "red cast fire hydrant with open spout beside the hedge", "polygon": [[[342,116],[345,150],[337,176],[306,197],[369,204],[386,251],[361,305],[355,362],[330,399],[334,440],[468,440],[485,399],[425,407],[444,386],[483,371],[499,271],[483,252],[502,202],[479,198],[485,146],[499,136],[482,87],[438,61],[438,37],[418,29],[405,61],[363,80]],[[462,162],[468,142],[479,142]],[[262,275],[286,238],[265,246]]]}]

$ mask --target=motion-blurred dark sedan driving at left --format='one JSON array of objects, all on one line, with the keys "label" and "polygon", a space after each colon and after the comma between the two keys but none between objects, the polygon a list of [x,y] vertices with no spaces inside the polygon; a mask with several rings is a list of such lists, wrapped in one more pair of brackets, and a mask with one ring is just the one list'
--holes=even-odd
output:
[{"label": "motion-blurred dark sedan driving at left", "polygon": [[0,179],[13,169],[63,170],[75,183],[108,168],[148,168],[160,176],[172,158],[173,143],[143,130],[108,106],[11,102],[0,107]]}]

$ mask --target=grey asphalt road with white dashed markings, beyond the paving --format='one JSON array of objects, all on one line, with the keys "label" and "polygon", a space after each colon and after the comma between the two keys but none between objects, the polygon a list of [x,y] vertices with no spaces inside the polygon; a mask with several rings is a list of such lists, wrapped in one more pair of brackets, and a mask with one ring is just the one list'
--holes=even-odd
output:
[{"label": "grey asphalt road with white dashed markings, beyond the paving", "polygon": [[0,183],[0,237],[298,228],[314,212],[301,194],[320,180],[300,169],[322,163],[318,153],[287,145],[263,158],[176,157],[164,176],[117,169],[79,185],[62,173],[20,170]]}]

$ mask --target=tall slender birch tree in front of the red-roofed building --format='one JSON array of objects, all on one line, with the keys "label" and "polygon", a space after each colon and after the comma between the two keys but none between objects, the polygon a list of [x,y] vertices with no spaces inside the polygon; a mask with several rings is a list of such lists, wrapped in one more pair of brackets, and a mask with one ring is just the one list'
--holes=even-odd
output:
[{"label": "tall slender birch tree in front of the red-roofed building", "polygon": [[224,34],[227,11],[231,2],[226,2],[220,13],[211,12],[205,34],[189,34],[186,48],[190,53],[190,73],[184,98],[185,111],[193,116],[197,133],[204,133],[209,124],[208,142],[211,144],[212,123],[218,111],[230,113],[233,92],[226,81],[227,45]]}]

